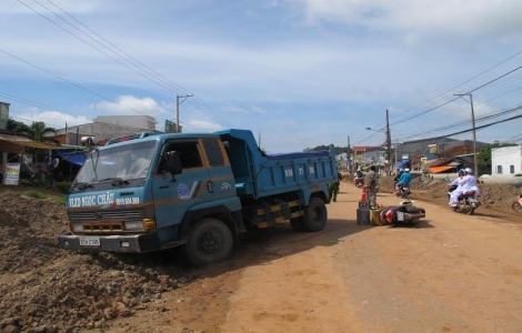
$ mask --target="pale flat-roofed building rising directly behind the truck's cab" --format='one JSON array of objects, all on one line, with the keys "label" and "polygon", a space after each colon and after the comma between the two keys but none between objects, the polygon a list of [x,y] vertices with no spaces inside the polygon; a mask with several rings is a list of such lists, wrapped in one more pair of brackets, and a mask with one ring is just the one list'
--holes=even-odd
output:
[{"label": "pale flat-roofed building rising directly behind the truck's cab", "polygon": [[92,123],[59,129],[54,138],[62,144],[81,144],[82,137],[104,142],[139,132],[159,132],[155,124],[155,119],[149,115],[99,115]]}]

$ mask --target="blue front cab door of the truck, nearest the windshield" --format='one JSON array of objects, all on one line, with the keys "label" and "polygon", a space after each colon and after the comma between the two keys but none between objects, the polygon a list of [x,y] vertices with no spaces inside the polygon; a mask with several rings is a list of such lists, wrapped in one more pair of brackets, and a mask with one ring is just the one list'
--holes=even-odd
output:
[{"label": "blue front cab door of the truck, nearest the windshield", "polygon": [[[174,150],[180,154],[183,171],[172,176],[162,157]],[[190,206],[214,200],[213,191],[208,184],[209,169],[204,167],[202,157],[202,148],[195,139],[164,144],[152,184],[158,229],[180,223]],[[160,236],[161,234],[160,232]]]}]

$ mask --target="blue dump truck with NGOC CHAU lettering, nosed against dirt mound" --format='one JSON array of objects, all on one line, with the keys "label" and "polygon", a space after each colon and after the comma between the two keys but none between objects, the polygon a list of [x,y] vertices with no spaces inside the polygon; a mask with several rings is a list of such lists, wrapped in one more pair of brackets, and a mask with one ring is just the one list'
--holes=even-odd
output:
[{"label": "blue dump truck with NGOC CHAU lettering, nosed against dirt mound", "polygon": [[243,231],[287,222],[321,231],[337,176],[333,145],[267,155],[248,130],[113,139],[89,152],[74,179],[59,245],[120,253],[184,245],[197,265],[219,262]]}]

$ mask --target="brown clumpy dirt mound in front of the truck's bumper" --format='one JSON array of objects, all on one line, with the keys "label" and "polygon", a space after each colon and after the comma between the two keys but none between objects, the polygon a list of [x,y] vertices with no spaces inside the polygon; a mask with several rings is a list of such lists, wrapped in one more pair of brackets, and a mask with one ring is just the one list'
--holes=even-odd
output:
[{"label": "brown clumpy dirt mound in front of the truck's bumper", "polygon": [[161,264],[169,259],[61,250],[66,223],[63,204],[52,198],[0,193],[1,332],[103,329],[190,280],[175,279],[173,263]]}]

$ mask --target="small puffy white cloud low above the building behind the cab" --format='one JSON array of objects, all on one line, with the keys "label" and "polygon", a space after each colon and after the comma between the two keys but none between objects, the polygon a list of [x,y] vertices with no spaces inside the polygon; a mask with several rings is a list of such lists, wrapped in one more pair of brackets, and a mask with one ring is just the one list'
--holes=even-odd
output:
[{"label": "small puffy white cloud low above the building behind the cab", "polygon": [[167,108],[169,108],[169,105],[160,105],[152,98],[140,99],[133,95],[119,95],[114,102],[102,101],[96,104],[97,110],[126,115],[158,117],[167,114]]}]

